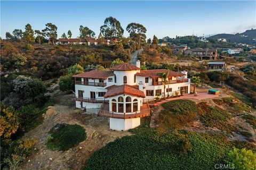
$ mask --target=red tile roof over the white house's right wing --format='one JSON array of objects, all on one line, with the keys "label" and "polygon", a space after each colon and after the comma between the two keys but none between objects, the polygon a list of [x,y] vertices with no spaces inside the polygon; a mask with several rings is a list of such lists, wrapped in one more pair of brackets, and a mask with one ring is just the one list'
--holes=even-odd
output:
[{"label": "red tile roof over the white house's right wing", "polygon": [[[159,70],[141,70],[140,73],[136,73],[138,76],[142,77],[150,77],[150,78],[159,78],[160,76],[158,73],[166,72],[166,69],[159,69]],[[169,77],[175,77],[175,76],[183,76],[185,74],[175,72],[175,71],[170,71],[169,72]]]}]

